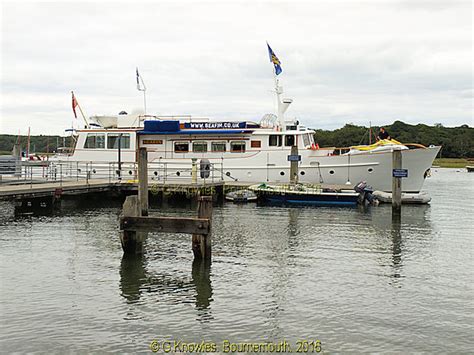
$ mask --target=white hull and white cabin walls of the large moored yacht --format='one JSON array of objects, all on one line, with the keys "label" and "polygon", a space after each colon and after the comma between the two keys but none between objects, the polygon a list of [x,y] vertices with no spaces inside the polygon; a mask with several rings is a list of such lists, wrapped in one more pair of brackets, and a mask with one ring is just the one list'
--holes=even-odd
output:
[{"label": "white hull and white cabin walls of the large moored yacht", "polygon": [[[114,131],[116,132],[116,131]],[[83,147],[85,133],[81,132],[78,146]],[[143,134],[138,137],[134,131],[131,135],[130,147],[121,150],[122,169],[132,176],[136,147],[140,144],[148,150],[148,161],[162,165],[154,170],[149,166],[149,176],[158,181],[170,179],[191,179],[192,161],[198,166],[208,162],[211,166],[211,178],[228,182],[244,183],[288,183],[290,180],[290,163],[288,156],[291,147],[271,147],[267,143],[269,136],[278,132],[255,131],[253,133],[230,134],[219,133],[198,134],[189,136],[180,134]],[[107,133],[108,134],[108,133]],[[293,134],[293,133],[292,133]],[[209,149],[205,152],[176,151],[174,142],[207,142],[212,140],[241,140],[259,143],[252,147],[247,143],[244,152],[216,152]],[[301,141],[301,139],[300,139]],[[150,143],[151,142],[151,143]],[[157,143],[160,144],[157,144]],[[161,144],[162,143],[162,144]],[[300,142],[301,143],[301,142]],[[227,143],[228,144],[228,143]],[[417,193],[424,183],[425,177],[441,147],[417,148],[402,150],[402,168],[408,170],[408,177],[402,179],[402,191]],[[191,149],[190,149],[191,150]],[[334,149],[299,149],[298,179],[309,184],[334,184],[354,186],[360,181],[367,181],[374,190],[391,192],[392,190],[392,152],[367,151],[358,154],[333,155]],[[118,152],[113,149],[78,148],[70,160],[82,162],[103,162],[109,164],[118,161]],[[113,169],[116,169],[113,168]],[[198,177],[200,176],[198,172]]]}]

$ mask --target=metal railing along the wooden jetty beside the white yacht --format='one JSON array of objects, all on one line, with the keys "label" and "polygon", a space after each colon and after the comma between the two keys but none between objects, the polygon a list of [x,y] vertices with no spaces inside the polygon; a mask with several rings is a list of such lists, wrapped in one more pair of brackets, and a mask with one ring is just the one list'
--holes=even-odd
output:
[{"label": "metal railing along the wooden jetty beside the white yacht", "polygon": [[[8,159],[0,161],[1,184],[40,184],[82,181],[103,183],[136,183],[138,166],[135,162],[94,161],[21,161]],[[149,162],[148,180],[155,184],[215,183],[223,181],[222,163]]]}]

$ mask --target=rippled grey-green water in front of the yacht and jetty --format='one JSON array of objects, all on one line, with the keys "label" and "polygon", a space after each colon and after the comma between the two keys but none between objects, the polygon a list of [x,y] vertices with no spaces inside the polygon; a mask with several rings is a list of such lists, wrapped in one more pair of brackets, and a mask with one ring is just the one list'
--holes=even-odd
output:
[{"label": "rippled grey-green water in front of the yacht and jetty", "polygon": [[431,204],[403,206],[401,226],[387,205],[217,206],[210,267],[180,234],[152,234],[143,258],[123,258],[119,201],[42,217],[3,202],[0,351],[286,340],[295,352],[320,340],[325,353],[472,352],[474,174],[438,169],[425,190]]}]

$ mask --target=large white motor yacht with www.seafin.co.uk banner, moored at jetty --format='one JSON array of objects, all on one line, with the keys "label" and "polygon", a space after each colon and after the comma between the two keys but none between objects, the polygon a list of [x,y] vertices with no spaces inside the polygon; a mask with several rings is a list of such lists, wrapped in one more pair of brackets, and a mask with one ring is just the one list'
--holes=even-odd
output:
[{"label": "large white motor yacht with www.seafin.co.uk banner, moored at jetty", "polygon": [[315,131],[285,117],[292,100],[282,99],[282,93],[276,80],[277,115],[267,114],[258,123],[124,112],[117,116],[92,116],[92,125],[77,130],[74,152],[67,159],[103,163],[120,159],[122,169],[132,175],[136,149],[140,146],[147,148],[149,162],[165,166],[153,172],[155,180],[184,175],[191,179],[191,166],[197,162],[201,167],[200,178],[209,175],[203,173],[204,167],[212,174],[220,174],[224,181],[286,183],[290,150],[296,145],[300,182],[353,186],[365,180],[376,190],[390,192],[391,153],[393,149],[402,149],[403,168],[409,171],[402,189],[414,193],[421,190],[441,147],[409,147],[396,141],[383,141],[345,151],[319,148]]}]

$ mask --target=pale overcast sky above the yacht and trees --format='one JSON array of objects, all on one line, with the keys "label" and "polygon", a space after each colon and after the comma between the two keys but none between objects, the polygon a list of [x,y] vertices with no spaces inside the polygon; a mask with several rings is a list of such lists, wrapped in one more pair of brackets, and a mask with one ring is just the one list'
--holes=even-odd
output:
[{"label": "pale overcast sky above the yacht and trees", "polygon": [[[2,1],[0,133],[62,134],[74,116],[473,125],[471,1]],[[81,123],[76,121],[76,125]]]}]

